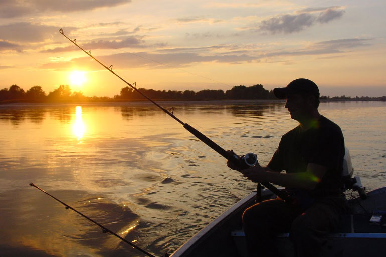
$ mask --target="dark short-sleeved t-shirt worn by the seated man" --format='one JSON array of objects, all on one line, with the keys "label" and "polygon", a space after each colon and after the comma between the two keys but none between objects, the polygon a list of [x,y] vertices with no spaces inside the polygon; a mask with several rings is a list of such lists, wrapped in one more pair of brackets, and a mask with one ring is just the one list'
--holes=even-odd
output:
[{"label": "dark short-sleeved t-shirt worn by the seated man", "polygon": [[301,132],[300,125],[281,138],[268,167],[287,173],[305,172],[308,163],[327,168],[314,190],[297,190],[312,197],[337,194],[342,188],[344,139],[338,125],[320,116],[312,128]]}]

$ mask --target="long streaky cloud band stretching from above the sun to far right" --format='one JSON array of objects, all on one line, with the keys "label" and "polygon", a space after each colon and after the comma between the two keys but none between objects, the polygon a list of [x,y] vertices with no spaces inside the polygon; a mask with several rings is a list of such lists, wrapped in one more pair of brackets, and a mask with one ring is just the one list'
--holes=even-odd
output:
[{"label": "long streaky cloud band stretching from above the sun to far right", "polygon": [[[146,67],[149,69],[180,68],[194,63],[218,62],[238,64],[245,62],[261,62],[270,58],[287,59],[290,56],[316,55],[325,56],[326,54],[344,54],[352,51],[355,47],[368,45],[371,39],[339,39],[331,41],[316,42],[311,45],[298,49],[283,51],[256,49],[236,49],[235,45],[221,45],[200,48],[175,48],[163,49],[156,53],[137,52],[137,53],[119,53],[108,56],[97,56],[105,62],[105,65],[125,68]],[[211,52],[215,50],[216,52]],[[219,53],[222,50],[222,53]],[[88,67],[89,69],[101,70],[102,66],[91,60],[89,57],[72,59],[69,62],[52,62],[41,66],[45,69],[69,69],[74,65]]]}]

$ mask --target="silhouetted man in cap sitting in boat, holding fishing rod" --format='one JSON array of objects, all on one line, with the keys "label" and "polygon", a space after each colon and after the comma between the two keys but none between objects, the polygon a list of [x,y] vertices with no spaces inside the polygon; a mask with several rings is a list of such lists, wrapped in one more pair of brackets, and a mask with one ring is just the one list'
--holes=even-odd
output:
[{"label": "silhouetted man in cap sitting in boat, holding fishing rod", "polygon": [[[243,214],[250,256],[277,256],[274,237],[290,231],[297,256],[319,256],[324,236],[345,210],[343,182],[344,139],[338,125],[318,112],[319,89],[308,79],[296,79],[274,94],[299,125],[282,136],[267,166],[239,170],[253,182],[285,187],[294,199],[257,203]],[[285,172],[282,172],[285,171]]]}]

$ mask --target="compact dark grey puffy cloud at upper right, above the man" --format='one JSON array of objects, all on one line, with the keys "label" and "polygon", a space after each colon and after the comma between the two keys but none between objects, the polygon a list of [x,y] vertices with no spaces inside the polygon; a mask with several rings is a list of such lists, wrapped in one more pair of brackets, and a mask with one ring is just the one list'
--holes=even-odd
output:
[{"label": "compact dark grey puffy cloud at upper right, above the man", "polygon": [[263,20],[257,29],[271,34],[289,34],[303,31],[317,23],[328,23],[342,17],[343,14],[344,10],[339,10],[338,7],[304,9],[294,15],[286,14]]}]

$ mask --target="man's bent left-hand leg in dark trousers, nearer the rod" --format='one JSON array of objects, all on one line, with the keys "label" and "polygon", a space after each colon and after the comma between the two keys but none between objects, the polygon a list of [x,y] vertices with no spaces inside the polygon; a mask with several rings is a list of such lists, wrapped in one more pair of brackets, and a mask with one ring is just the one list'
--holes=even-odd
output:
[{"label": "man's bent left-hand leg in dark trousers, nearer the rod", "polygon": [[243,225],[250,257],[277,256],[274,238],[288,232],[300,210],[281,199],[257,203],[244,211]]}]

